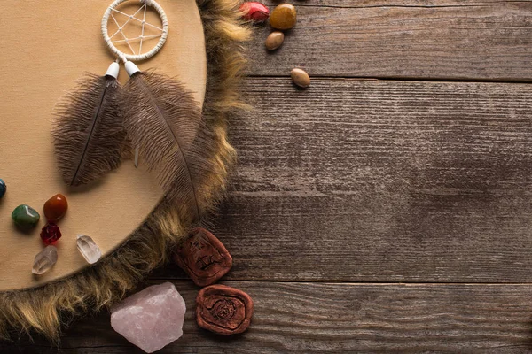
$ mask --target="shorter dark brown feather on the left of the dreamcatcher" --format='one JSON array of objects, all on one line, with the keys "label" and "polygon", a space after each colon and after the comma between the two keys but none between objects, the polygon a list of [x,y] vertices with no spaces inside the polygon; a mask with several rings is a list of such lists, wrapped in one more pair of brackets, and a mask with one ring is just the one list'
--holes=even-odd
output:
[{"label": "shorter dark brown feather on the left of the dreamcatcher", "polygon": [[113,77],[88,73],[59,101],[52,136],[66,184],[94,181],[120,165],[126,132],[118,111],[119,89]]}]

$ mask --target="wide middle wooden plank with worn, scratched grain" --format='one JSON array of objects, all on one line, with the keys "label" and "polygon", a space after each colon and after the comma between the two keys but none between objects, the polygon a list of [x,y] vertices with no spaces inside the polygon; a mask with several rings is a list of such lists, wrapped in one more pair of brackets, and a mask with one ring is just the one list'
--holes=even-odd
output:
[{"label": "wide middle wooden plank with worn, scratched grain", "polygon": [[[249,79],[228,279],[531,282],[532,86]],[[183,277],[169,266],[157,277]]]}]

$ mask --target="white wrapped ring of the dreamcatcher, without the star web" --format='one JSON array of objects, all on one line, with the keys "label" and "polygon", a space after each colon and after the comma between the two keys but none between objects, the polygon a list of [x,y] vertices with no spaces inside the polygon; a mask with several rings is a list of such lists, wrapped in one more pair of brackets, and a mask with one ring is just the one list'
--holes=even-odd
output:
[{"label": "white wrapped ring of the dreamcatcher, without the star web", "polygon": [[113,12],[113,9],[115,9],[118,5],[126,2],[126,1],[129,1],[129,0],[115,0],[113,2],[113,4],[110,4],[109,7],[107,8],[106,12],[104,13],[104,17],[102,19],[102,35],[104,36],[104,41],[106,41],[106,44],[107,44],[107,47],[109,47],[109,49],[111,51],[113,51],[114,54],[116,54],[119,58],[121,58],[121,60],[123,60],[124,62],[126,60],[130,60],[130,61],[142,61],[142,60],[145,60],[147,58],[152,58],[155,54],[157,54],[157,52],[159,52],[159,50],[162,48],[162,46],[164,45],[164,43],[166,42],[166,39],[168,37],[168,19],[167,19],[167,15],[166,13],[164,12],[164,10],[162,9],[162,7],[160,7],[160,4],[157,4],[157,2],[155,2],[154,0],[138,0],[141,4],[145,4],[146,6],[151,6],[153,7],[153,9],[159,13],[159,16],[160,16],[160,20],[162,21],[162,34],[160,35],[160,39],[159,39],[159,42],[157,43],[157,45],[155,47],[153,47],[152,50],[144,53],[144,54],[126,54],[126,53],[123,53],[121,50],[118,50],[113,42],[111,41],[111,38],[109,37],[109,34],[107,32],[107,23],[109,21],[109,17],[111,16],[111,12]]}]

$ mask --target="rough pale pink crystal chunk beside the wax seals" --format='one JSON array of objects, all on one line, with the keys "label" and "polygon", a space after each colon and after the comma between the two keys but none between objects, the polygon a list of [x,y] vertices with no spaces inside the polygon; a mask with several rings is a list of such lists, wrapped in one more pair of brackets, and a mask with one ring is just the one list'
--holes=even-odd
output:
[{"label": "rough pale pink crystal chunk beside the wax seals", "polygon": [[171,282],[153,285],[111,308],[111,326],[146,353],[183,335],[186,306]]}]

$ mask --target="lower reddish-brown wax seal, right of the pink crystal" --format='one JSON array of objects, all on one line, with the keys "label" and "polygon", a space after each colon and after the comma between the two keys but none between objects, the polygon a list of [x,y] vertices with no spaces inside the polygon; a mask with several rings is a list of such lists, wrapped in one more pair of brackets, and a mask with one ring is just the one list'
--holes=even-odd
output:
[{"label": "lower reddish-brown wax seal, right of the pink crystal", "polygon": [[198,326],[219,335],[244,332],[252,316],[253,300],[242,290],[211,285],[201,289],[196,297]]}]

